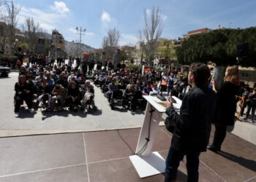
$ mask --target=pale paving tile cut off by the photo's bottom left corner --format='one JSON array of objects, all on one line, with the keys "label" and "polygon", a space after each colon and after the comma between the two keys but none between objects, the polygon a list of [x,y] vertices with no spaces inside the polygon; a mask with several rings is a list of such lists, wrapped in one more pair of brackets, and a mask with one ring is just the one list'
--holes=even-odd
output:
[{"label": "pale paving tile cut off by the photo's bottom left corner", "polygon": [[86,165],[44,170],[0,178],[0,182],[87,182]]}]

